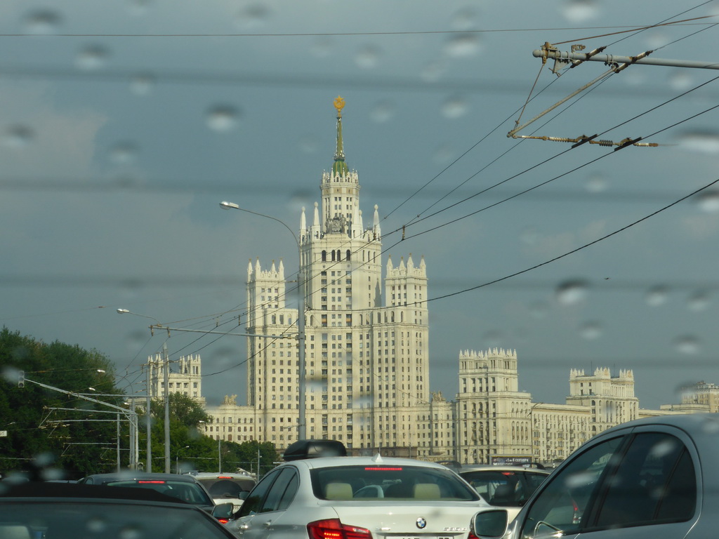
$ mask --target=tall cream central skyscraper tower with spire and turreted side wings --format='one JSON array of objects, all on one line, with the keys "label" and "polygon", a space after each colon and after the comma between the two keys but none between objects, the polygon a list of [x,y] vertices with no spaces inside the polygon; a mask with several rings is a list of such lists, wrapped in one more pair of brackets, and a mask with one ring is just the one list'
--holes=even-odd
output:
[{"label": "tall cream central skyscraper tower with spire and turreted side wings", "polygon": [[[306,290],[306,434],[348,448],[416,447],[416,407],[427,413],[430,400],[426,266],[411,255],[398,267],[388,260],[384,305],[378,208],[365,228],[359,176],[345,162],[344,99],[334,107],[334,162],[321,176],[321,206],[314,203],[309,225],[303,208],[297,236]],[[296,287],[285,285],[281,261],[269,270],[250,262],[246,329],[257,336],[247,339],[249,421],[257,439],[278,448],[296,440],[302,368],[288,289]]]}]

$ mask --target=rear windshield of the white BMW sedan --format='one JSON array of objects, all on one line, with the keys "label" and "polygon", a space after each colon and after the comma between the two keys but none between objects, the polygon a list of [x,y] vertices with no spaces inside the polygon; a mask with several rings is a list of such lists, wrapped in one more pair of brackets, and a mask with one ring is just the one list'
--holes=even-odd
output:
[{"label": "rear windshield of the white BMW sedan", "polygon": [[472,502],[479,495],[452,471],[423,466],[336,466],[311,470],[320,499],[414,499]]}]

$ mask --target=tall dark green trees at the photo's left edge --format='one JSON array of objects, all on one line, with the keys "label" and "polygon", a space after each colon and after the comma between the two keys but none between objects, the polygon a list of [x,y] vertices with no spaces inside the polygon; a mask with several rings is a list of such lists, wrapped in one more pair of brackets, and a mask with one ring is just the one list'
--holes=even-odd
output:
[{"label": "tall dark green trees at the photo's left edge", "polygon": [[[0,471],[50,465],[73,478],[114,458],[116,416],[78,394],[116,394],[114,369],[96,350],[0,331]],[[18,372],[26,382],[18,387]],[[89,397],[119,405],[117,397]],[[66,410],[59,410],[64,408]],[[121,440],[121,446],[123,441]],[[127,441],[124,445],[127,447]]]}]

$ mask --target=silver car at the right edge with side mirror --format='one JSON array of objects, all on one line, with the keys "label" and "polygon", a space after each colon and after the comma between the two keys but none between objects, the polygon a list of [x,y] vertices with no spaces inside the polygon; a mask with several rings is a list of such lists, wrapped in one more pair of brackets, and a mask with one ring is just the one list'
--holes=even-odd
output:
[{"label": "silver car at the right edge with side mirror", "polygon": [[719,414],[618,425],[574,451],[508,528],[480,513],[480,538],[705,539],[719,528]]}]

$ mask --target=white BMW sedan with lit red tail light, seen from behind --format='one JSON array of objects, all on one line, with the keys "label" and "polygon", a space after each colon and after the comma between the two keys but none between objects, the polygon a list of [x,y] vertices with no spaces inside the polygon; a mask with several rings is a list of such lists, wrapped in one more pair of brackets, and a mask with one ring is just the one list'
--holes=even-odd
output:
[{"label": "white BMW sedan with lit red tail light, seen from behind", "polygon": [[[321,455],[316,444],[309,447]],[[468,539],[472,517],[491,509],[440,464],[379,455],[294,458],[265,475],[227,523],[239,538]]]}]

